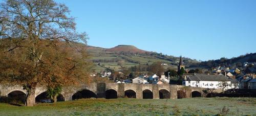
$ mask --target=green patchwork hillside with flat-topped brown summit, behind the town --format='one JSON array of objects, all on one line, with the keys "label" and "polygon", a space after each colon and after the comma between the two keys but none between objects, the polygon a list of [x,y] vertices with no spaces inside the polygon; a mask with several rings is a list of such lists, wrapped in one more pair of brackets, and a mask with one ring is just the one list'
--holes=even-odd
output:
[{"label": "green patchwork hillside with flat-topped brown summit, behind the town", "polygon": [[[110,49],[88,46],[87,50],[92,57],[91,60],[95,63],[95,72],[100,72],[107,68],[119,70],[121,66],[117,65],[118,62],[122,62],[124,67],[162,62],[168,64],[165,68],[173,67],[174,69],[177,68],[177,62],[179,62],[179,57],[140,50],[133,45],[117,45]],[[183,58],[183,62],[187,66],[199,63],[197,60],[189,58]]]}]

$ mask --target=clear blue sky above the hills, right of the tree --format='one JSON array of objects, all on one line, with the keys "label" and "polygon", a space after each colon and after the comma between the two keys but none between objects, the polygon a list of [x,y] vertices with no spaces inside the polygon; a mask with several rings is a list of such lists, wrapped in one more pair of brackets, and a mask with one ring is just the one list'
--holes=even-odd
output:
[{"label": "clear blue sky above the hills, right of the tree", "polygon": [[256,52],[256,1],[57,0],[89,45],[135,45],[198,60]]}]

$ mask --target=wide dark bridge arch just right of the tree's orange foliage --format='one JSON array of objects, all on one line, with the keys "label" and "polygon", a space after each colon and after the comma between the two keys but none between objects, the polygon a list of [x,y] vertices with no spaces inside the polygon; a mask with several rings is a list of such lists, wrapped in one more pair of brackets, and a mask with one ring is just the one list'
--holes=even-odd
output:
[{"label": "wide dark bridge arch just right of the tree's orange foliage", "polygon": [[95,94],[95,92],[88,89],[79,90],[72,95],[72,100],[87,99],[87,98],[97,98],[97,95]]}]

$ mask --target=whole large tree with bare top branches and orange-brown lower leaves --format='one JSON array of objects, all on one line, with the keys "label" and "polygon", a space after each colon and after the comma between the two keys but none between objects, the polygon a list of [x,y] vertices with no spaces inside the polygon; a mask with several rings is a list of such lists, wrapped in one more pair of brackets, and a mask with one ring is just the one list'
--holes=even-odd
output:
[{"label": "whole large tree with bare top branches and orange-brown lower leaves", "polygon": [[69,9],[53,0],[7,0],[0,7],[0,82],[23,84],[27,106],[37,85],[88,79],[89,63]]}]

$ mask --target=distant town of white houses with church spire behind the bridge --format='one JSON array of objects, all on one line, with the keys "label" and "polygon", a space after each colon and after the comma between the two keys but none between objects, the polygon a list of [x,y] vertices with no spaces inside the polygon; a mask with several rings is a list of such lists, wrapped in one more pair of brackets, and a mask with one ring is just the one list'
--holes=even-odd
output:
[{"label": "distant town of white houses with church spire behind the bridge", "polygon": [[[161,63],[159,66],[167,66],[166,63]],[[202,69],[186,69],[183,65],[183,59],[180,57],[180,62],[177,65],[177,69],[173,72],[177,72],[177,75],[171,76],[172,71],[166,71],[161,75],[157,74],[144,74],[131,79],[114,79],[116,83],[137,83],[137,84],[182,84],[185,86],[203,87],[203,88],[223,88],[225,83],[225,90],[228,89],[256,89],[256,63],[244,62],[241,66],[217,66],[213,67],[212,71],[203,71]],[[156,67],[158,68],[158,67]],[[159,67],[162,68],[162,67]],[[178,75],[178,72],[182,72],[182,75]],[[123,75],[123,72],[118,72],[119,75]],[[167,75],[164,75],[167,74]],[[100,73],[101,78],[108,78],[113,80],[112,72]],[[132,75],[132,74],[131,74]],[[130,75],[130,76],[131,76]],[[91,75],[95,77],[96,74]],[[172,80],[178,77],[182,83],[178,83],[177,80]]]}]

